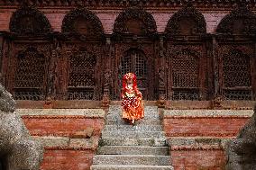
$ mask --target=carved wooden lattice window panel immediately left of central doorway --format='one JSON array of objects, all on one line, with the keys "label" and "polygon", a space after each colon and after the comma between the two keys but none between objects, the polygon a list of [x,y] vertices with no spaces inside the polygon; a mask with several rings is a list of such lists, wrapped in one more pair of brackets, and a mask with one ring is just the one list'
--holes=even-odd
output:
[{"label": "carved wooden lattice window panel immediately left of central doorway", "polygon": [[[69,42],[67,50],[67,92],[68,100],[100,100],[103,94],[103,72],[101,43]],[[65,62],[65,61],[64,61]],[[64,63],[63,63],[64,64]],[[62,75],[60,78],[66,78]]]}]

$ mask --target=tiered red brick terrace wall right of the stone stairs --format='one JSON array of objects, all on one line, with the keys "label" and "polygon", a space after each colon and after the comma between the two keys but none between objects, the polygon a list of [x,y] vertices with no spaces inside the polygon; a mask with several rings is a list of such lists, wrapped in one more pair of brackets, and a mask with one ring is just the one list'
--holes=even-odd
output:
[{"label": "tiered red brick terrace wall right of the stone stairs", "polygon": [[224,170],[225,143],[235,138],[252,110],[166,110],[163,128],[175,170]]}]

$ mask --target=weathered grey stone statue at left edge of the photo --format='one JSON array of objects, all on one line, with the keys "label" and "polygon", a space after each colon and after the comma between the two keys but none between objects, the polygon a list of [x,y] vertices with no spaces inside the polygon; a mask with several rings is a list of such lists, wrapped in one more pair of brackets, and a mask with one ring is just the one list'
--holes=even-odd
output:
[{"label": "weathered grey stone statue at left edge of the photo", "polygon": [[0,166],[6,170],[38,170],[43,147],[32,139],[22,118],[14,110],[12,95],[0,84]]}]

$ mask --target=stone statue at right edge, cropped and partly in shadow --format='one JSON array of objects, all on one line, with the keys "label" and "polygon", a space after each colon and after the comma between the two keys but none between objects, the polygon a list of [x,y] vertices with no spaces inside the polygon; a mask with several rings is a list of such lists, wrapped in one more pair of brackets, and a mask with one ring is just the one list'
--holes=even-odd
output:
[{"label": "stone statue at right edge, cropped and partly in shadow", "polygon": [[256,169],[256,105],[238,137],[226,145],[226,170]]}]

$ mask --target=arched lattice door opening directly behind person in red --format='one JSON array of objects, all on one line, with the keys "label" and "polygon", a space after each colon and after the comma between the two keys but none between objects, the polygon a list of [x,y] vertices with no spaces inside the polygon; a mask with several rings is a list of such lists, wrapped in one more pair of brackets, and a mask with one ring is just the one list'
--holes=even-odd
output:
[{"label": "arched lattice door opening directly behind person in red", "polygon": [[124,55],[122,59],[122,76],[129,72],[135,73],[138,87],[142,90],[142,94],[145,93],[147,87],[147,65],[142,51],[131,49]]}]

